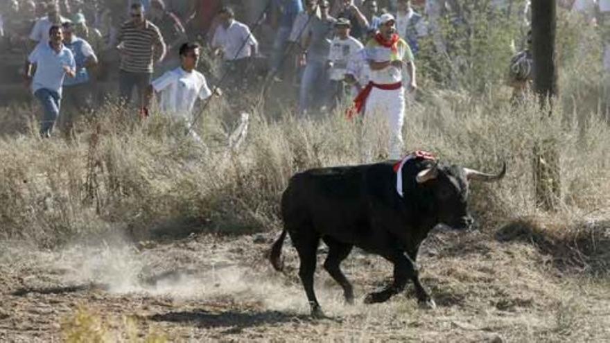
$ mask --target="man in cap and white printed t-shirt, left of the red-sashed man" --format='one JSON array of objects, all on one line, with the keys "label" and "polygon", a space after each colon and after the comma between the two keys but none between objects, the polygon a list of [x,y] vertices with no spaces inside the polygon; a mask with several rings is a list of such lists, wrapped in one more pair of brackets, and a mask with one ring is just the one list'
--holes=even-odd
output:
[{"label": "man in cap and white printed t-shirt, left of the red-sashed man", "polygon": [[344,98],[347,62],[364,47],[358,39],[349,35],[350,28],[351,23],[346,18],[339,18],[335,23],[335,37],[331,43],[331,53],[329,54],[331,107],[334,107]]}]

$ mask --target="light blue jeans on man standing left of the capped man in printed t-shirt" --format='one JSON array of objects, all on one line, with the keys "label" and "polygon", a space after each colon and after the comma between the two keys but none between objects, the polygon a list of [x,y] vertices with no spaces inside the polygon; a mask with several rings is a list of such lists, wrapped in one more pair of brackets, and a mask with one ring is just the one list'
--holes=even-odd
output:
[{"label": "light blue jeans on man standing left of the capped man in printed t-shirt", "polygon": [[299,113],[313,106],[320,107],[328,99],[329,71],[324,60],[308,60],[301,78],[299,90]]}]

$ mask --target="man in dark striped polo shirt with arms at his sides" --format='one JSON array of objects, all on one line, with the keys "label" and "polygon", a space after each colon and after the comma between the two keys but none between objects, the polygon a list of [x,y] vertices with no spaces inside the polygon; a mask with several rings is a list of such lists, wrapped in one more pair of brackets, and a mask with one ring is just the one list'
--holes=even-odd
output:
[{"label": "man in dark striped polo shirt with arms at his sides", "polygon": [[163,60],[166,46],[159,28],[144,18],[144,8],[136,3],[131,6],[131,19],[119,31],[119,96],[130,103],[133,89],[139,94],[139,108],[145,107],[144,92],[153,77],[154,64]]}]

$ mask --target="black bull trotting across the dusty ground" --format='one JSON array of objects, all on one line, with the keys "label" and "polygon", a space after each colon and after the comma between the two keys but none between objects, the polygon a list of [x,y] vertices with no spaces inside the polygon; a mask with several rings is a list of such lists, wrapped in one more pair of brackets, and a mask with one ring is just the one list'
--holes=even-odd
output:
[{"label": "black bull trotting across the dusty ground", "polygon": [[354,301],[354,290],[340,264],[356,246],[394,264],[393,283],[368,294],[365,303],[390,299],[410,280],[419,304],[434,307],[415,265],[419,245],[439,223],[455,229],[469,227],[469,181],[495,181],[506,173],[506,164],[498,175],[489,175],[460,166],[439,165],[433,160],[412,159],[402,168],[401,197],[392,166],[392,162],[385,162],[319,168],[290,179],[281,199],[284,231],[272,245],[270,261],[276,270],[282,269],[281,247],[286,233],[290,234],[299,254],[299,277],[312,315],[323,315],[313,290],[320,239],[329,247],[324,269],[341,285],[348,303]]}]

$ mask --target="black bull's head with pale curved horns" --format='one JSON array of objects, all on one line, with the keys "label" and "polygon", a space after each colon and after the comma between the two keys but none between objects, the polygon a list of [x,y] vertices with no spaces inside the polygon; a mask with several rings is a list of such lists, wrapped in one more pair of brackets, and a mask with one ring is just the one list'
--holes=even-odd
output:
[{"label": "black bull's head with pale curved horns", "polygon": [[487,174],[460,166],[439,166],[421,170],[417,183],[430,186],[440,222],[454,229],[468,229],[473,224],[468,207],[469,181],[494,182],[506,174],[506,163],[500,173]]}]

